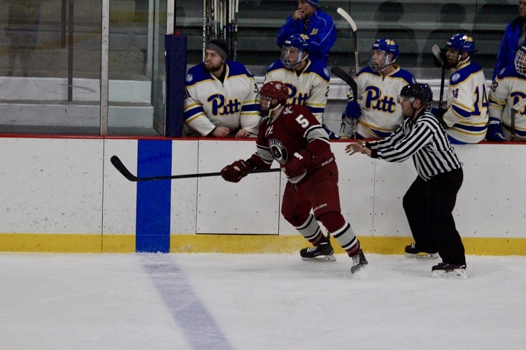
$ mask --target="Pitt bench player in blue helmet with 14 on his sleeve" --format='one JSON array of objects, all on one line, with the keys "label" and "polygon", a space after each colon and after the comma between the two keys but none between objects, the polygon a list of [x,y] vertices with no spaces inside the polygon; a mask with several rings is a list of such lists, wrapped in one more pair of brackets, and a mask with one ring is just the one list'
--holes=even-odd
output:
[{"label": "Pitt bench player in blue helmet with 14 on his sleeve", "polygon": [[475,51],[475,41],[463,33],[452,36],[445,47],[445,64],[453,71],[447,89],[447,108],[437,110],[435,115],[447,128],[450,143],[479,143],[486,136],[486,78],[479,64],[471,61]]}]

